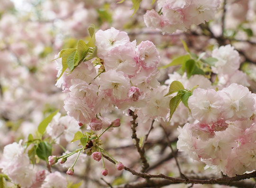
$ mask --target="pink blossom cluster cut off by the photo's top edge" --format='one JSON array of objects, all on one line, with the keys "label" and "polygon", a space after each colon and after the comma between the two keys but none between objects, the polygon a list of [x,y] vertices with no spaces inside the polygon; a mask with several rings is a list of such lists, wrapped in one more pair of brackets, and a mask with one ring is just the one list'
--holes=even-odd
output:
[{"label": "pink blossom cluster cut off by the photo's top edge", "polygon": [[147,10],[144,21],[147,27],[164,33],[185,31],[192,24],[199,25],[214,18],[219,4],[220,0],[158,0],[159,12]]}]

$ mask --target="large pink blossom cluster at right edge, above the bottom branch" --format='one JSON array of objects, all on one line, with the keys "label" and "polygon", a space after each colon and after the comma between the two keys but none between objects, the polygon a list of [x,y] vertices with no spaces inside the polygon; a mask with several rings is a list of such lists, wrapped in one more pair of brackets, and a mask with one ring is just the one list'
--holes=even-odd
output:
[{"label": "large pink blossom cluster at right edge, above the bottom branch", "polygon": [[179,151],[228,176],[256,169],[256,94],[235,83],[197,88],[188,106],[194,122],[178,128]]}]

